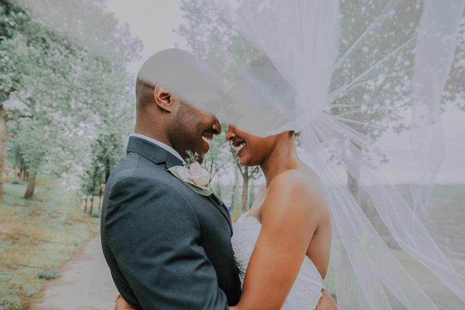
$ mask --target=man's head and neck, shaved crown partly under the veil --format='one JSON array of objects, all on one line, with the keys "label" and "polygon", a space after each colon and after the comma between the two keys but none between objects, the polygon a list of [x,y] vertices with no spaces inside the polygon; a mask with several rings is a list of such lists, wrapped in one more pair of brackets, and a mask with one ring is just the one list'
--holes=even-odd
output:
[{"label": "man's head and neck, shaved crown partly under the veil", "polygon": [[203,155],[208,140],[221,132],[213,116],[221,104],[221,79],[181,49],[162,50],[139,70],[136,82],[136,133]]}]

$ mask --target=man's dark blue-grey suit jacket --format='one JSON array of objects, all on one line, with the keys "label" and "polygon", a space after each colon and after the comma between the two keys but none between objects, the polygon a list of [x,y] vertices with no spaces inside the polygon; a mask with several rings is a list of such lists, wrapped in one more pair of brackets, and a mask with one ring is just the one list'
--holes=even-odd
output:
[{"label": "man's dark blue-grey suit jacket", "polygon": [[130,137],[105,189],[101,238],[120,294],[135,309],[216,310],[237,304],[232,224],[222,202],[167,168],[181,161]]}]

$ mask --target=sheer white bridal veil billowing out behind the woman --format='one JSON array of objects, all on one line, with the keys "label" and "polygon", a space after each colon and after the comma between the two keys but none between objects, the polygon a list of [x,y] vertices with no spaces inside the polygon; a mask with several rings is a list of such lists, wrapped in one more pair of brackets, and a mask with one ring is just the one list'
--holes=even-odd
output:
[{"label": "sheer white bridal veil billowing out behind the woman", "polygon": [[[456,53],[465,0],[193,2],[208,21],[193,52],[226,89],[240,81],[255,90],[253,99],[228,92],[221,117],[256,135],[301,132],[302,158],[331,208],[339,308],[437,310],[452,298],[465,309],[465,226],[455,217],[465,206],[436,197],[441,113],[465,97],[454,75],[465,70]],[[275,96],[279,85],[270,90],[269,77],[248,70],[263,58],[295,96]]]}]

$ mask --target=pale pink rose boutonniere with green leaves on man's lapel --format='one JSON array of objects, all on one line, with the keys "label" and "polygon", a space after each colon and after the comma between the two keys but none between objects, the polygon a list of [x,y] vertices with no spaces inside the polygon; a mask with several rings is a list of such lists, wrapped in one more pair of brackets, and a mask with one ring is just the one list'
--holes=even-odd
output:
[{"label": "pale pink rose boutonniere with green leaves on man's lapel", "polygon": [[187,150],[186,154],[187,158],[183,166],[174,166],[168,170],[196,193],[210,196],[213,193],[210,186],[211,173],[199,164],[199,154],[192,153],[190,150]]}]

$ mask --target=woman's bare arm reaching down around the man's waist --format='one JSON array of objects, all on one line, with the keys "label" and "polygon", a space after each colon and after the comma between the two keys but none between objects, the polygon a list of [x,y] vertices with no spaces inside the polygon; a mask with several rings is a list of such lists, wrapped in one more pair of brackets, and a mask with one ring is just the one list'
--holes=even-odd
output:
[{"label": "woman's bare arm reaching down around the man's waist", "polygon": [[310,240],[328,215],[308,179],[296,171],[277,176],[262,206],[262,229],[239,304],[232,310],[279,310],[289,294]]}]

